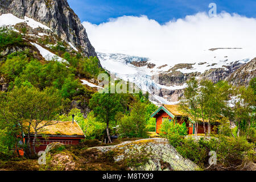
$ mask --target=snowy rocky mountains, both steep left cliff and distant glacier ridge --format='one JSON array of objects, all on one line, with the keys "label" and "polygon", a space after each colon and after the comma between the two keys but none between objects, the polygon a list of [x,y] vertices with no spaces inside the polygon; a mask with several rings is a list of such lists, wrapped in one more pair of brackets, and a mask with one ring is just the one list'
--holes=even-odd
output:
[{"label": "snowy rocky mountains, both steep left cliff and distant glacier ridge", "polygon": [[[243,48],[205,49],[199,52],[200,60],[187,61],[174,60],[176,57],[159,61],[120,53],[96,53],[67,0],[0,1],[0,26],[18,31],[26,42],[23,46],[0,49],[0,61],[12,52],[27,48],[38,60],[65,62],[59,49],[88,57],[98,56],[99,66],[122,80],[134,82],[150,93],[150,100],[155,104],[175,104],[183,96],[185,82],[191,77],[247,85],[256,75],[256,59],[246,55]],[[0,76],[0,90],[7,87],[8,81]]]}]

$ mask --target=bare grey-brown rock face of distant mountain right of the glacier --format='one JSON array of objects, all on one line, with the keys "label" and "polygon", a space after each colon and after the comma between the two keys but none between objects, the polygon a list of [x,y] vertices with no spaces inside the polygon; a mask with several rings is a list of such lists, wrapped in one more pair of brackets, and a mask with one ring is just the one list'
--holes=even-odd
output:
[{"label": "bare grey-brown rock face of distant mountain right of the glacier", "polygon": [[[205,64],[205,63],[201,63]],[[176,71],[180,67],[189,68],[189,64],[181,65],[177,64],[170,69],[171,72],[161,73],[159,75],[159,84],[172,86],[172,85],[183,85],[191,77],[197,77],[198,80],[211,80],[217,83],[220,80],[226,80],[233,85],[248,85],[251,78],[256,76],[256,58],[251,60],[249,63],[238,63],[238,61],[222,67],[222,68],[212,68],[204,73],[193,72],[193,73],[181,73]],[[153,94],[165,98],[169,102],[176,102],[183,96],[182,89],[167,90],[167,89],[152,89]],[[154,98],[151,98],[152,101]]]}]

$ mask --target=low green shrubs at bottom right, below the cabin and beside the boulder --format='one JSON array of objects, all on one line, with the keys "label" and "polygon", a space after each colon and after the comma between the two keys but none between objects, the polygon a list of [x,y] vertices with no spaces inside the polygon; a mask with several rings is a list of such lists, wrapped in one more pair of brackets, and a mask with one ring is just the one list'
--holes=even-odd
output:
[{"label": "low green shrubs at bottom right, below the cabin and beside the boulder", "polygon": [[247,160],[255,161],[255,145],[247,142],[244,137],[224,137],[206,140],[203,137],[195,140],[192,137],[184,138],[175,133],[169,133],[167,138],[184,158],[192,160],[201,168],[209,166],[209,152],[215,151],[217,154],[217,165],[229,169],[239,169],[237,167]]}]

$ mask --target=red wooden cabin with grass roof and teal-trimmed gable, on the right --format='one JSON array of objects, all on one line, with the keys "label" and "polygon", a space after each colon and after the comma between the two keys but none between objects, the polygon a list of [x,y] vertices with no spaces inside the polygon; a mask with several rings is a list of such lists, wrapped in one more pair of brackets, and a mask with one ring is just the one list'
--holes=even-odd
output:
[{"label": "red wooden cabin with grass roof and teal-trimmed gable, on the right", "polygon": [[[160,128],[164,119],[169,121],[182,124],[186,123],[188,129],[188,135],[195,134],[195,121],[188,117],[187,114],[179,110],[178,105],[162,105],[154,113],[151,114],[151,117],[156,118],[155,123],[155,132],[160,133]],[[218,122],[210,123],[210,132],[216,133],[217,129],[214,126],[217,126]],[[205,121],[205,128],[208,131],[208,122]],[[199,119],[197,134],[204,134],[204,126],[202,119]]]}]

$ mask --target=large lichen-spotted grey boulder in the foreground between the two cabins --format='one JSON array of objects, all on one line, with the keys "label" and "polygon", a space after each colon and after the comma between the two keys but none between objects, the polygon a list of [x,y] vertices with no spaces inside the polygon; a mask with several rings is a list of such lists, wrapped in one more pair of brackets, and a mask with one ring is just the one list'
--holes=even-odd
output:
[{"label": "large lichen-spotted grey boulder in the foreground between the two cabins", "polygon": [[129,168],[134,171],[193,171],[199,168],[191,160],[184,159],[168,140],[163,138],[127,141],[115,146],[93,147],[89,150],[92,149],[103,153],[113,151],[115,162],[127,159],[136,161],[140,157],[146,159],[141,165],[129,163]]}]

